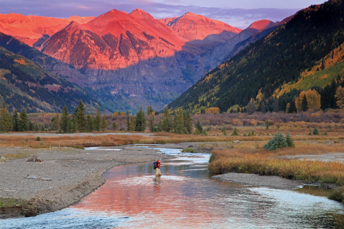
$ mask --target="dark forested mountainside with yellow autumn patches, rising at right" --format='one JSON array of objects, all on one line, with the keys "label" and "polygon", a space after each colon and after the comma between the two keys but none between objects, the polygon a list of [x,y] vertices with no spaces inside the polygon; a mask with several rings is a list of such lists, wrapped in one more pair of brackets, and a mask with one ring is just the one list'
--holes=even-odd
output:
[{"label": "dark forested mountainside with yellow autumn patches, rising at right", "polygon": [[[325,87],[344,74],[343,15],[343,0],[299,11],[289,22],[210,71],[168,107],[193,111],[219,107],[225,112],[236,104],[245,106],[251,99],[268,102],[292,93],[288,98],[293,100],[298,90]],[[279,105],[286,110],[286,103]]]}]

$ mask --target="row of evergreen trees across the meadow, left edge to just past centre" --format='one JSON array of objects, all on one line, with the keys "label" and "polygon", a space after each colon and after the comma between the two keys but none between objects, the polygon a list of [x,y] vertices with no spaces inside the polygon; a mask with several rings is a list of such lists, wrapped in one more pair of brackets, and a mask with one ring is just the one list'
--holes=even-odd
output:
[{"label": "row of evergreen trees across the meadow, left edge to just past centre", "polygon": [[[108,129],[108,122],[105,115],[100,115],[99,108],[96,114],[86,114],[84,103],[80,100],[79,105],[75,108],[73,114],[68,113],[67,106],[63,107],[62,114],[56,113],[51,119],[49,128],[45,128],[43,124],[32,123],[26,113],[26,109],[22,109],[18,115],[17,110],[11,116],[7,110],[6,103],[2,104],[0,109],[0,131],[56,131],[56,133],[82,133],[93,131],[105,131]],[[190,111],[176,111],[171,115],[167,108],[164,109],[159,122],[155,123],[155,114],[153,108],[148,106],[145,113],[140,107],[136,115],[115,112],[113,115],[126,115],[127,131],[143,132],[147,128],[153,131],[173,132],[176,134],[206,134],[203,130],[201,122],[198,120],[196,129],[193,131],[193,123]],[[117,123],[112,122],[111,127],[116,130]],[[121,129],[123,130],[123,129]]]}]

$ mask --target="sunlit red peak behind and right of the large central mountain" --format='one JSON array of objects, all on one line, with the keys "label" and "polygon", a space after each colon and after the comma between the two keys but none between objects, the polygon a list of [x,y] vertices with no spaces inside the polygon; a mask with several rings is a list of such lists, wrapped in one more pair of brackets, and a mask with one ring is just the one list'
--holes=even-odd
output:
[{"label": "sunlit red peak behind and right of the large central mountain", "polygon": [[184,13],[175,18],[160,19],[179,36],[197,44],[216,45],[226,42],[238,34],[241,29],[224,22],[207,18],[192,12]]}]

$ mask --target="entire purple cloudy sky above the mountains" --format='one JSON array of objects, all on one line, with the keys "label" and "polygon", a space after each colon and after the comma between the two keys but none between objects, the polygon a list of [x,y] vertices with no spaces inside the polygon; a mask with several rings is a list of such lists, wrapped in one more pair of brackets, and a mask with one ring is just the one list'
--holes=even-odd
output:
[{"label": "entire purple cloudy sky above the mountains", "polygon": [[1,0],[0,13],[68,18],[98,16],[112,9],[131,12],[140,8],[154,18],[180,16],[190,11],[246,28],[252,22],[280,21],[299,9],[324,0]]}]

